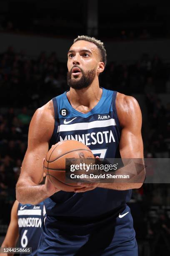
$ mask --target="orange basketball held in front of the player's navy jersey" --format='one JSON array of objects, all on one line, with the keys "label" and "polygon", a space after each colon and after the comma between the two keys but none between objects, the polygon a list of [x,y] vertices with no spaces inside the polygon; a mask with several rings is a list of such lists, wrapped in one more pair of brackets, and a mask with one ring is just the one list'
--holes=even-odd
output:
[{"label": "orange basketball held in front of the player's navy jersey", "polygon": [[85,159],[94,159],[90,148],[80,141],[67,140],[56,143],[47,153],[44,161],[44,171],[52,184],[58,189],[74,192],[75,188],[82,188],[74,183],[65,182],[65,159],[75,159],[76,163],[85,162]]}]

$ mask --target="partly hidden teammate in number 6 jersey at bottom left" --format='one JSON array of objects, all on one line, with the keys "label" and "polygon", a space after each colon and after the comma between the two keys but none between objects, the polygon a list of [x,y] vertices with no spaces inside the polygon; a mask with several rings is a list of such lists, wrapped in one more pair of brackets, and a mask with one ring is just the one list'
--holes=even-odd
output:
[{"label": "partly hidden teammate in number 6 jersey at bottom left", "polygon": [[[20,204],[15,200],[12,210],[10,225],[1,247],[15,247],[19,238],[19,247],[32,247],[32,253],[37,255],[37,246],[41,235],[42,220],[45,215],[43,202],[37,205]],[[2,256],[13,256],[14,253],[3,253]],[[25,255],[20,253],[20,255]]]}]

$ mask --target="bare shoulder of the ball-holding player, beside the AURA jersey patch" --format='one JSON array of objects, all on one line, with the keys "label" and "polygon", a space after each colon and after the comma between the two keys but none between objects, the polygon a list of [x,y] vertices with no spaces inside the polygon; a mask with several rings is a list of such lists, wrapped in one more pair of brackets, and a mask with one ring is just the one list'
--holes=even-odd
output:
[{"label": "bare shoulder of the ball-holding player, beside the AURA jersey patch", "polygon": [[129,122],[138,122],[142,121],[142,114],[138,101],[133,96],[128,96],[117,92],[116,97],[116,110],[117,116],[120,121],[120,125],[123,127]]}]

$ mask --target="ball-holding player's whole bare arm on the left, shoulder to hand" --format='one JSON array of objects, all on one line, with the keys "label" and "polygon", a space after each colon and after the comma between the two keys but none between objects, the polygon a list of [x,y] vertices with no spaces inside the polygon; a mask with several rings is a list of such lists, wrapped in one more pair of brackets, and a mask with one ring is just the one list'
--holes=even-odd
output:
[{"label": "ball-holding player's whole bare arm on the left, shoulder to hand", "polygon": [[36,110],[30,123],[28,148],[16,186],[16,197],[22,204],[38,204],[59,191],[48,179],[45,184],[38,185],[43,175],[43,159],[47,154],[53,129],[54,109],[50,101]]}]

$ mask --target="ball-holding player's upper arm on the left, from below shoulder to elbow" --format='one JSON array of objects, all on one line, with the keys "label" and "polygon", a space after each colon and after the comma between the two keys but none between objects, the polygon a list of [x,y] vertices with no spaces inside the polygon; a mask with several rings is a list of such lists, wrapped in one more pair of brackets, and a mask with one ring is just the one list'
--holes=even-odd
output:
[{"label": "ball-holding player's upper arm on the left, from below shoulder to elbow", "polygon": [[35,112],[28,133],[28,148],[23,160],[19,181],[30,179],[39,184],[43,174],[43,159],[47,155],[54,129],[54,118],[48,110]]}]

